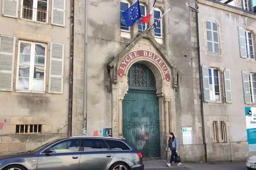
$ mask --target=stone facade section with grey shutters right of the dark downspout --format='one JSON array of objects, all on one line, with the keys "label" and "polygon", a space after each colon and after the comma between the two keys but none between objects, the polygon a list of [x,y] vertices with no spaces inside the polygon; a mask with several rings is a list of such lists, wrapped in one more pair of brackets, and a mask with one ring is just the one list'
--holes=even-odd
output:
[{"label": "stone facade section with grey shutters right of the dark downspout", "polygon": [[252,79],[245,79],[256,71],[256,15],[252,1],[246,2],[247,10],[241,0],[198,0],[207,161],[244,161],[255,154],[249,152],[245,117],[245,107],[255,107],[254,86],[249,92]]}]

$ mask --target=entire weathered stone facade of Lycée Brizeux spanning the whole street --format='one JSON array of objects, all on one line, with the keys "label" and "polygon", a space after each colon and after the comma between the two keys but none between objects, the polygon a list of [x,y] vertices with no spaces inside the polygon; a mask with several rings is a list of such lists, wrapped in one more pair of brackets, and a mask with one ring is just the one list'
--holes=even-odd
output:
[{"label": "entire weathered stone facade of Lyc\u00e9e Brizeux spanning the whole street", "polygon": [[[252,2],[246,10],[238,0],[157,0],[147,26],[126,27],[122,12],[135,2],[2,0],[0,154],[110,135],[146,159],[166,159],[170,132],[182,161],[253,154],[244,107],[254,99],[244,97],[242,75],[256,73],[246,56],[254,51],[240,57],[239,42],[245,31],[256,44]],[[140,0],[143,16],[153,4]],[[155,30],[145,29],[169,7]]]}]

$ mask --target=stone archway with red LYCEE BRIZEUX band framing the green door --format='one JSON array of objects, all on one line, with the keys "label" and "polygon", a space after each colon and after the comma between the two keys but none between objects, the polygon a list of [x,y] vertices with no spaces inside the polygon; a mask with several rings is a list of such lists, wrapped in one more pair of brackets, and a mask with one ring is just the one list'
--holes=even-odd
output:
[{"label": "stone archway with red LYCEE BRIZEUX band framing the green door", "polygon": [[[140,51],[140,52],[139,52]],[[154,74],[156,80],[156,95],[159,99],[159,123],[160,123],[160,148],[161,157],[166,157],[164,148],[167,142],[169,132],[175,131],[175,88],[171,76],[173,69],[166,63],[163,58],[151,51],[138,50],[132,51],[116,63],[116,83],[112,86],[112,130],[113,137],[123,138],[122,134],[122,100],[128,91],[127,74],[128,70],[134,63],[146,65]],[[121,68],[118,70],[118,68]],[[124,67],[125,66],[125,67]],[[170,74],[170,72],[172,74]],[[167,80],[168,79],[168,80]]]}]

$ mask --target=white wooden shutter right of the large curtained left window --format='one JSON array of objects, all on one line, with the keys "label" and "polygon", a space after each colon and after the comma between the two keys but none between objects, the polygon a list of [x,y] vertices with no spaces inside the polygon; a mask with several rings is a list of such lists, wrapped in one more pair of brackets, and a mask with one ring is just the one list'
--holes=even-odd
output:
[{"label": "white wooden shutter right of the large curtained left window", "polygon": [[48,93],[63,94],[64,44],[51,42]]}]

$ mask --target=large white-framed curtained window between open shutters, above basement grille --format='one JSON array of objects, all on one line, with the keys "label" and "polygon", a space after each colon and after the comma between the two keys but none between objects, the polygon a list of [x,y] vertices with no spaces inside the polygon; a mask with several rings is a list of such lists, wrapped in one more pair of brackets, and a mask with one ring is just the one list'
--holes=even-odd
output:
[{"label": "large white-framed curtained window between open shutters, above basement grille", "polygon": [[45,92],[47,44],[19,41],[16,91]]}]

